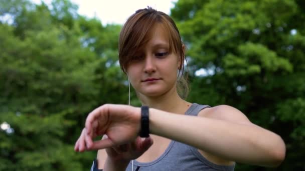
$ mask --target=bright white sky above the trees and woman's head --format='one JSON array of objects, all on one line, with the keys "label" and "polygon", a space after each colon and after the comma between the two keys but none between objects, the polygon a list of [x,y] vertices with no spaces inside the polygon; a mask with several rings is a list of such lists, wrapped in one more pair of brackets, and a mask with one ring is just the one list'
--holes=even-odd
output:
[{"label": "bright white sky above the trees and woman's head", "polygon": [[[40,3],[41,0],[32,0]],[[42,0],[47,4],[51,0]],[[123,24],[127,18],[137,9],[145,8],[147,5],[170,14],[177,0],[71,0],[78,4],[79,14],[93,17],[96,15],[102,24],[118,23]]]}]

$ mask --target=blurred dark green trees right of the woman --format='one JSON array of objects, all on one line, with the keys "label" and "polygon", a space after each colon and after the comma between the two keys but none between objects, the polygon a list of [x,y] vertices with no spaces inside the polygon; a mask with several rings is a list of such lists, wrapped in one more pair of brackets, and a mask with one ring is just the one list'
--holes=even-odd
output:
[{"label": "blurred dark green trees right of the woman", "polygon": [[[302,0],[178,0],[171,10],[189,47],[189,100],[233,105],[280,134],[287,151],[276,170],[305,169],[304,7]],[[236,170],[273,169],[238,163]]]}]

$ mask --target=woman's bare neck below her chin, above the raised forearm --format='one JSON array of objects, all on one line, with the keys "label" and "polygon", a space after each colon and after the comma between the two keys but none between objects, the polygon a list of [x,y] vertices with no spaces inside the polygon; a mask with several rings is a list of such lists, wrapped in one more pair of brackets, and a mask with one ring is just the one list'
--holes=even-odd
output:
[{"label": "woman's bare neck below her chin, above the raised forearm", "polygon": [[145,96],[141,93],[138,96],[142,105],[178,114],[184,114],[191,104],[179,96],[176,87],[160,96]]}]

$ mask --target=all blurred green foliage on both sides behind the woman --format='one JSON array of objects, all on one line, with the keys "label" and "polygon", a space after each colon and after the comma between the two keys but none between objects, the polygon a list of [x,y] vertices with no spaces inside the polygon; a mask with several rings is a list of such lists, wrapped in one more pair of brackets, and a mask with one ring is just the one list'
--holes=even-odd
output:
[{"label": "all blurred green foliage on both sides behind the woman", "polygon": [[[0,0],[0,124],[11,126],[0,129],[0,170],[88,170],[96,152],[73,150],[87,113],[128,102],[121,25],[77,8]],[[188,100],[235,106],[286,142],[278,168],[236,170],[305,170],[305,3],[178,0],[171,13],[188,47]]]}]

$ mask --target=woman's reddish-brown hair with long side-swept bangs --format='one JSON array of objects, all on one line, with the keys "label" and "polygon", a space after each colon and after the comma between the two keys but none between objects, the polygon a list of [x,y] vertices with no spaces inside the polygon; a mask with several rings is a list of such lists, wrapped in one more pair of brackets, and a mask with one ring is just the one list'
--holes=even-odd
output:
[{"label": "woman's reddish-brown hair with long side-swept bangs", "polygon": [[157,11],[151,7],[138,9],[123,25],[118,44],[118,56],[121,69],[126,73],[131,57],[141,49],[149,40],[149,32],[157,23],[161,23],[169,35],[169,52],[175,52],[180,57],[180,79],[177,83],[177,91],[182,98],[188,95],[187,76],[184,77],[184,49],[179,30],[174,20],[166,13]]}]

